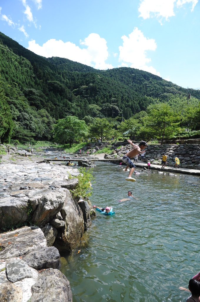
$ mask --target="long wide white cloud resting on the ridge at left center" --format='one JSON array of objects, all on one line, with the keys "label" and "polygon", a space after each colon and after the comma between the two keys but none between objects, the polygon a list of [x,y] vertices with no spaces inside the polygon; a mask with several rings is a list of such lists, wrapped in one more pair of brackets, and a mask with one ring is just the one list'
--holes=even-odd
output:
[{"label": "long wide white cloud resting on the ridge at left center", "polygon": [[105,39],[93,33],[89,34],[84,41],[80,40],[80,44],[86,46],[83,49],[74,43],[55,39],[48,40],[42,46],[37,44],[35,40],[29,41],[28,49],[47,58],[58,56],[92,66],[96,69],[108,69],[113,68],[113,66],[105,63],[108,58],[106,43]]}]

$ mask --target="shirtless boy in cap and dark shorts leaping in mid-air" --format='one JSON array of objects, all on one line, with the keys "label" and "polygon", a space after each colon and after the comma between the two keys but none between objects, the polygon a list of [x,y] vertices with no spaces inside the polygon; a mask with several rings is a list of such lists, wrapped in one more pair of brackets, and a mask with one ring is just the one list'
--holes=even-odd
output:
[{"label": "shirtless boy in cap and dark shorts leaping in mid-air", "polygon": [[[142,140],[142,142],[139,143],[139,145],[135,145],[132,143],[131,140],[127,140],[128,143],[130,143],[133,146],[133,149],[131,149],[129,152],[126,153],[126,155],[123,156],[122,160],[125,164],[127,164],[126,168],[123,169],[123,171],[128,171],[128,167],[130,168],[129,176],[126,178],[126,180],[130,182],[135,182],[136,180],[131,177],[133,171],[135,170],[136,166],[133,164],[131,161],[131,158],[136,156],[136,154],[143,154],[145,150],[143,150],[146,146],[147,143]],[[143,151],[141,151],[143,150]]]}]

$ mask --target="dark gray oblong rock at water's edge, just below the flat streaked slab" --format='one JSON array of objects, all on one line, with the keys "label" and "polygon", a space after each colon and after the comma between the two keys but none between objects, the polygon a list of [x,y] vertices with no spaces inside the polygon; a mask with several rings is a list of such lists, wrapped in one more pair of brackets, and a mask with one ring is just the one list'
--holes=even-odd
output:
[{"label": "dark gray oblong rock at water's edge, just below the flat streaked slab", "polygon": [[29,252],[23,258],[28,265],[35,269],[57,268],[61,267],[61,258],[54,246],[36,249]]}]

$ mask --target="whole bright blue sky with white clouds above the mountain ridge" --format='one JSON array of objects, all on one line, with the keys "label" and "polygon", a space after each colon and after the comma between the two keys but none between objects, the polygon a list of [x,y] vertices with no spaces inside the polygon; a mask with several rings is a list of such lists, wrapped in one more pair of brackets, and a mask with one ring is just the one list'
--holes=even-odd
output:
[{"label": "whole bright blue sky with white clouds above the mountain ridge", "polygon": [[200,89],[200,0],[0,0],[0,31],[41,56]]}]

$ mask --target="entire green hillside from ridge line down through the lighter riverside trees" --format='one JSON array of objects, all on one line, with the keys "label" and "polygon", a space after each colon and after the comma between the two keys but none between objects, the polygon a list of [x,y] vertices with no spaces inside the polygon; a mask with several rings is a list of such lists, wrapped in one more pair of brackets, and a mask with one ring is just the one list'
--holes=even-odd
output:
[{"label": "entire green hillside from ridge line down through the lighter riverside trees", "polygon": [[38,56],[0,32],[1,143],[199,136],[199,100],[139,69]]}]

